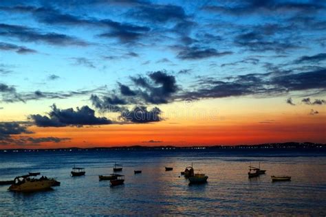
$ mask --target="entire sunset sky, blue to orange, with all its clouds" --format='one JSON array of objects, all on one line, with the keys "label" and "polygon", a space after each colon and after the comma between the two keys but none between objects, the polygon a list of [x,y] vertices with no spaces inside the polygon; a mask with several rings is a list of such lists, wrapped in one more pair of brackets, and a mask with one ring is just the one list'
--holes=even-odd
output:
[{"label": "entire sunset sky, blue to orange, with all its clouds", "polygon": [[326,143],[326,2],[0,1],[0,149]]}]

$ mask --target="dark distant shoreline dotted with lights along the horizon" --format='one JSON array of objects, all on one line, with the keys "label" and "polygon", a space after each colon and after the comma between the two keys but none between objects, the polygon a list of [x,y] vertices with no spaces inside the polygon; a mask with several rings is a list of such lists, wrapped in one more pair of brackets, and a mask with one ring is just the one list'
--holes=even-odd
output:
[{"label": "dark distant shoreline dotted with lights along the horizon", "polygon": [[1,149],[0,152],[30,152],[30,151],[47,151],[47,150],[218,150],[218,149],[235,149],[235,150],[296,150],[296,149],[319,149],[326,150],[326,144],[315,144],[312,142],[285,142],[272,144],[256,145],[236,145],[236,146],[113,146],[113,147],[91,147],[91,148],[9,148]]}]

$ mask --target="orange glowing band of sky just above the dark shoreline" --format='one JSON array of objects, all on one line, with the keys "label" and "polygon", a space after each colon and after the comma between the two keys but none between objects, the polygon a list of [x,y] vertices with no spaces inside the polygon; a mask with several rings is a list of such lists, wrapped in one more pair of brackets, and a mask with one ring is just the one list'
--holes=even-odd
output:
[{"label": "orange glowing band of sky just above the dark shoreline", "polygon": [[[286,141],[312,141],[326,143],[323,115],[318,118],[283,117],[261,121],[261,117],[225,117],[210,122],[168,121],[155,124],[111,124],[94,127],[39,128],[31,126],[29,137],[70,138],[60,143],[43,143],[41,146],[3,146],[2,148],[91,148],[110,146],[213,146],[237,144],[263,144]],[[152,141],[152,142],[149,142]],[[153,142],[155,141],[155,142]]]}]

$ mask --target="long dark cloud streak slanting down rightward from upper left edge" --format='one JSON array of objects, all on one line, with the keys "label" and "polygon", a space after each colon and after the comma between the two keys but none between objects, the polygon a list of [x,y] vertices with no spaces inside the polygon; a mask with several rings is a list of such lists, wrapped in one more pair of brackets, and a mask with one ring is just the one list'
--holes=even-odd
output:
[{"label": "long dark cloud streak slanting down rightward from upper left edge", "polygon": [[9,25],[3,23],[0,23],[0,36],[19,38],[20,41],[27,42],[43,42],[51,45],[88,45],[85,41],[81,41],[78,38],[67,36],[65,34],[54,32],[43,33],[22,25]]}]

